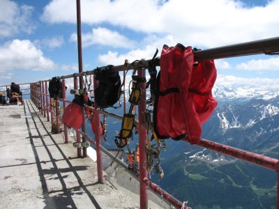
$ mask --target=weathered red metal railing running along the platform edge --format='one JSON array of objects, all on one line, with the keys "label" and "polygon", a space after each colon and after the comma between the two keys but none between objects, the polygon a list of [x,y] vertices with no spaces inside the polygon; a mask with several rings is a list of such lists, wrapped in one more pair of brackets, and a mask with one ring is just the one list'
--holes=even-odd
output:
[{"label": "weathered red metal railing running along the platform edge", "polygon": [[[277,54],[279,52],[279,37],[277,38],[269,38],[265,40],[257,40],[253,42],[246,42],[241,43],[238,45],[229,45],[225,47],[217,47],[213,49],[206,49],[206,50],[200,50],[193,52],[195,56],[195,61],[201,61],[204,59],[222,59],[225,57],[235,57],[235,56],[246,56],[246,55],[252,55],[252,54]],[[137,73],[139,77],[145,78],[145,72],[146,68],[148,68],[148,61],[137,61],[133,63],[132,67],[137,65],[138,70]],[[156,65],[159,65],[157,63]],[[117,65],[112,68],[113,71],[121,71],[123,70],[124,65]],[[63,84],[63,98],[60,100],[63,102],[63,109],[66,108],[66,103],[70,102],[66,100],[66,88],[65,88],[65,79],[73,78],[74,82],[74,88],[78,88],[77,84],[77,77],[83,77],[84,75],[94,75],[96,70],[89,70],[86,72],[79,72],[75,73],[74,75],[62,75],[60,78],[62,79]],[[36,104],[38,109],[40,110],[41,114],[45,117],[47,115],[47,121],[50,121],[49,118],[49,112],[51,113],[51,123],[54,123],[54,116],[56,116],[56,130],[57,132],[60,132],[59,130],[59,124],[61,124],[61,121],[59,121],[59,107],[58,103],[56,102],[55,106],[52,105],[52,98],[50,98],[50,102],[48,102],[49,95],[47,95],[47,82],[50,82],[50,79],[36,82],[34,84],[31,84],[31,100]],[[94,77],[94,88],[96,88],[97,83],[96,79]],[[142,89],[142,92],[145,89],[145,85],[142,84],[140,86]],[[98,124],[100,124],[100,114],[103,114],[105,116],[111,116],[114,118],[117,118],[119,120],[122,120],[122,116],[112,114],[107,111],[103,111],[98,109],[98,107],[84,107],[88,108],[91,111],[94,111],[94,116],[96,120],[96,141],[91,139],[87,134],[85,129],[81,130],[75,130],[77,134],[77,142],[80,142],[80,135],[82,135],[87,141],[90,141],[94,146],[96,146],[96,153],[97,153],[97,165],[98,165],[98,181],[99,183],[103,183],[103,167],[102,167],[102,152],[106,153],[110,157],[114,158],[115,156],[107,151],[103,146],[100,145],[100,127]],[[146,108],[146,95],[145,93],[142,93],[140,104],[138,106],[138,114],[139,114],[139,121],[138,121],[138,130],[139,130],[139,140],[140,140],[140,175],[138,176],[140,178],[140,206],[141,208],[147,208],[148,207],[148,198],[146,193],[146,188],[151,187],[153,190],[157,193],[163,196],[163,198],[166,201],[169,201],[169,203],[172,203],[173,206],[176,208],[181,208],[183,206],[183,203],[181,201],[178,201],[175,199],[172,195],[168,194],[167,192],[163,191],[163,189],[160,189],[158,185],[155,185],[151,183],[151,181],[148,179],[147,172],[144,169],[144,162],[146,161],[145,152],[144,152],[144,146],[146,144],[146,127],[144,123],[144,111]],[[65,136],[65,143],[68,143],[68,132],[67,127],[64,125],[64,136]],[[184,141],[188,142],[187,139],[184,139]],[[246,162],[250,162],[252,164],[257,164],[261,167],[264,167],[266,169],[271,169],[273,171],[276,171],[278,173],[278,183],[277,183],[277,208],[279,207],[279,160],[272,158],[272,157],[266,157],[264,155],[259,155],[256,153],[251,153],[246,150],[241,150],[239,148],[234,148],[232,146],[227,146],[224,144],[218,144],[213,141],[209,141],[206,139],[200,139],[197,146],[201,146],[204,148],[208,148],[210,150],[216,151],[218,153],[222,153],[225,155],[229,155],[232,157],[235,157],[236,159],[244,160]],[[86,150],[86,148],[84,148]],[[83,157],[86,157],[86,151],[83,152]],[[82,157],[81,148],[77,148],[77,157]],[[127,165],[123,163],[121,160],[116,158],[116,162],[121,164],[123,167],[127,168]],[[163,192],[162,192],[163,191]]]}]

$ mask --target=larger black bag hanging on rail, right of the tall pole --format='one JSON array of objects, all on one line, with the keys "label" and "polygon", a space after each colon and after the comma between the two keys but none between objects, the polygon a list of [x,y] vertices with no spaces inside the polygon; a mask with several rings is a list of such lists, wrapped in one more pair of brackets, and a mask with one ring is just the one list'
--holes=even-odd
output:
[{"label": "larger black bag hanging on rail, right of the tall pole", "polygon": [[121,95],[119,72],[112,72],[112,67],[113,65],[107,65],[96,69],[98,86],[95,90],[95,102],[101,109],[113,107]]}]

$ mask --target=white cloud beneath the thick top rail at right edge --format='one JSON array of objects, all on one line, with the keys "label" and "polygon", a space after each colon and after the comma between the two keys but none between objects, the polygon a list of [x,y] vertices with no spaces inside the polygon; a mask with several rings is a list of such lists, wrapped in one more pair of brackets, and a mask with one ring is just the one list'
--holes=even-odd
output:
[{"label": "white cloud beneath the thick top rail at right edge", "polygon": [[237,70],[249,71],[265,71],[276,70],[279,71],[279,58],[271,57],[270,59],[252,59],[246,63],[236,65]]}]

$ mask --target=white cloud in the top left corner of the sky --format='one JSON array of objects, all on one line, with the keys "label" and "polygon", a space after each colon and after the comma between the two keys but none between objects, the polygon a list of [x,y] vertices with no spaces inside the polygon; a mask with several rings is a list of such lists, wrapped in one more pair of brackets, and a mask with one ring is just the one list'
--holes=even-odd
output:
[{"label": "white cloud in the top left corner of the sky", "polygon": [[33,7],[18,6],[14,1],[0,0],[0,38],[16,33],[31,33],[35,26],[31,22]]}]

